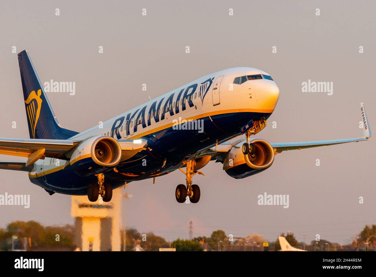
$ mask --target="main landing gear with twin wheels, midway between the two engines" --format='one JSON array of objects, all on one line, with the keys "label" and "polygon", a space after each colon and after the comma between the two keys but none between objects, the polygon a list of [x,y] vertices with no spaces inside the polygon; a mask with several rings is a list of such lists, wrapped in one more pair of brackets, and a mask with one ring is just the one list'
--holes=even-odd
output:
[{"label": "main landing gear with twin wheels, midway between the two engines", "polygon": [[179,203],[184,203],[187,196],[189,196],[189,199],[192,203],[197,203],[200,200],[200,187],[196,184],[192,184],[193,175],[204,174],[200,171],[194,172],[193,168],[195,164],[196,161],[194,160],[188,161],[186,163],[186,172],[179,168],[186,175],[186,186],[183,184],[177,185],[175,190],[176,201]]}]

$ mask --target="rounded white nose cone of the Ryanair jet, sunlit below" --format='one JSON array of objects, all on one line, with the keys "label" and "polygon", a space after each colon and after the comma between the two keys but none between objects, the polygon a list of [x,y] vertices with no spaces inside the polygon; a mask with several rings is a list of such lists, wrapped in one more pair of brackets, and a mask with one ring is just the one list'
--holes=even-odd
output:
[{"label": "rounded white nose cone of the Ryanair jet, sunlit below", "polygon": [[256,88],[256,101],[262,109],[274,110],[278,98],[279,88],[274,81],[262,80]]}]

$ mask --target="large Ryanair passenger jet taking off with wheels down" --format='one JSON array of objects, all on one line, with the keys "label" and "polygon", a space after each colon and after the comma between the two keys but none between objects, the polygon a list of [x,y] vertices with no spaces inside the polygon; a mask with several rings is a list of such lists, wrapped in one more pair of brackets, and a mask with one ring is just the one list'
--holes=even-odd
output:
[{"label": "large Ryanair passenger jet taking off with wheels down", "polygon": [[[271,76],[236,67],[212,73],[115,116],[83,132],[63,128],[52,110],[27,50],[18,53],[30,139],[0,138],[0,154],[27,158],[0,161],[0,169],[26,171],[50,195],[87,195],[108,202],[127,183],[185,174],[179,203],[199,202],[193,184],[214,160],[235,179],[258,174],[282,151],[366,141],[371,137],[364,105],[362,137],[268,143],[252,136],[265,128],[279,99]],[[97,112],[100,112],[97,111]],[[242,136],[235,142],[228,142]]]}]

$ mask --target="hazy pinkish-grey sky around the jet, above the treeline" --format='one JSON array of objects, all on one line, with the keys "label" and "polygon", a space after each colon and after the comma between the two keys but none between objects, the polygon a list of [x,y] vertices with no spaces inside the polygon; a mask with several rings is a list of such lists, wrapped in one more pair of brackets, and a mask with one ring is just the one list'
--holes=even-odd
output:
[{"label": "hazy pinkish-grey sky around the jet, above the treeline", "polygon": [[[55,15],[55,9],[60,15]],[[147,16],[141,9],[147,9]],[[233,16],[229,9],[233,8]],[[320,8],[320,16],[315,9]],[[29,137],[17,53],[29,51],[42,82],[76,82],[76,95],[48,93],[62,126],[83,131],[151,98],[225,68],[268,72],[280,89],[276,110],[257,137],[269,142],[340,139],[361,134],[359,102],[376,130],[376,2],[360,1],[80,1],[4,2],[0,9],[1,137]],[[98,53],[103,46],[104,53]],[[185,47],[190,46],[190,53]],[[277,53],[272,53],[272,47]],[[364,53],[359,53],[359,46]],[[302,82],[334,82],[334,93],[302,93]],[[142,91],[142,84],[147,91]],[[12,122],[17,128],[12,129]],[[277,128],[271,128],[271,122]],[[278,154],[264,172],[242,180],[211,162],[194,177],[197,204],[178,204],[176,171],[131,183],[123,222],[166,239],[213,230],[275,240],[293,232],[306,242],[346,243],[376,223],[375,138],[369,142]],[[315,166],[316,159],[321,166]],[[0,160],[17,158],[0,155]],[[30,194],[29,209],[0,206],[0,227],[13,220],[73,223],[71,198],[2,170],[0,194]],[[290,195],[290,207],[259,206],[257,196]],[[359,204],[359,196],[364,204]]]}]

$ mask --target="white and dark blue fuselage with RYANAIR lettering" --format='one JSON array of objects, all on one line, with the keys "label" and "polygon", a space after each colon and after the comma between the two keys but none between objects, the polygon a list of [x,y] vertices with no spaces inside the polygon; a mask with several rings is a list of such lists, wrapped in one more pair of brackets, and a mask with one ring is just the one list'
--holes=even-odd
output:
[{"label": "white and dark blue fuselage with RYANAIR lettering", "polygon": [[[241,127],[250,120],[267,119],[278,97],[279,89],[268,73],[250,67],[230,68],[203,76],[70,139],[107,135],[148,141],[146,150],[105,173],[115,189],[124,182],[167,174],[181,167],[183,160],[240,135]],[[186,121],[196,123],[184,125]],[[70,168],[63,169],[65,162],[38,160],[29,178],[51,192],[85,195],[97,177],[81,177]],[[85,159],[77,162],[85,164]]]}]

